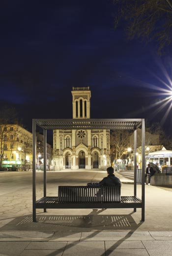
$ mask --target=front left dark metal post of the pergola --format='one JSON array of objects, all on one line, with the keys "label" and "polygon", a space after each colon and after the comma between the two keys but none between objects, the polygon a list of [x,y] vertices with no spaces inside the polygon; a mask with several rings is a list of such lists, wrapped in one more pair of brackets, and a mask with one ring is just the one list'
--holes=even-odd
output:
[{"label": "front left dark metal post of the pergola", "polygon": [[36,222],[36,122],[32,120],[32,132],[33,132],[33,141],[32,141],[32,207],[33,207],[33,222]]}]

